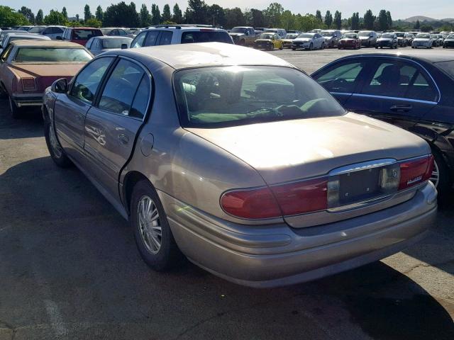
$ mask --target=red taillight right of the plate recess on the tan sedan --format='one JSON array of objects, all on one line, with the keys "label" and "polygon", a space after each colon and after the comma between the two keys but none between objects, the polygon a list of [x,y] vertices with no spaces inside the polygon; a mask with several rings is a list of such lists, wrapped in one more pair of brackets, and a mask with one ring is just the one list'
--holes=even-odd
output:
[{"label": "red taillight right of the plate recess on the tan sedan", "polygon": [[431,178],[433,171],[433,156],[400,164],[399,190],[416,186]]}]

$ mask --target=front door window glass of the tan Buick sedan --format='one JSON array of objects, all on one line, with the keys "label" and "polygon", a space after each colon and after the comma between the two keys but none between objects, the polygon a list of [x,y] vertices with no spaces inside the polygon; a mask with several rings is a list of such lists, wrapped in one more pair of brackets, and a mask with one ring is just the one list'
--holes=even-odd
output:
[{"label": "front door window glass of the tan Buick sedan", "polygon": [[82,69],[74,81],[74,85],[71,89],[71,96],[86,103],[92,103],[102,77],[106,73],[106,69],[109,67],[112,60],[114,60],[112,57],[99,58]]}]

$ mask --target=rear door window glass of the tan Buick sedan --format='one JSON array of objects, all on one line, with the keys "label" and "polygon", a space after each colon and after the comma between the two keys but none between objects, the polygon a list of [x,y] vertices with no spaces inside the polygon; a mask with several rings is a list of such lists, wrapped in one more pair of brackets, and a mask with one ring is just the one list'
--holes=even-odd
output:
[{"label": "rear door window glass of the tan Buick sedan", "polygon": [[130,115],[135,92],[143,74],[143,69],[137,64],[120,60],[102,91],[99,108],[111,113]]}]

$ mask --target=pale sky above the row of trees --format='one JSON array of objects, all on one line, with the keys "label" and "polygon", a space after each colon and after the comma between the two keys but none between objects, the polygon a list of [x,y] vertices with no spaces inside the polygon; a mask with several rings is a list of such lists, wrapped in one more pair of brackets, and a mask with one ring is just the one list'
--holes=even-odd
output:
[{"label": "pale sky above the row of trees", "polygon": [[[127,4],[131,0],[124,0]],[[264,9],[271,2],[275,0],[217,0],[209,1],[205,0],[206,4],[218,4],[223,7],[239,7],[243,11],[248,8]],[[112,3],[116,4],[120,0],[1,0],[1,5],[10,6],[12,8],[21,8],[21,6],[27,6],[31,8],[33,13],[37,13],[38,9],[43,9],[44,13],[48,13],[51,9],[62,10],[63,6],[66,6],[68,15],[83,16],[85,4],[89,4],[92,13],[96,11],[96,7],[101,5],[103,9]],[[177,2],[179,7],[184,10],[187,6],[187,0],[155,0],[155,1],[143,1],[135,0],[135,6],[140,8],[142,4],[146,4],[150,10],[151,4],[155,3],[160,7],[162,12],[162,6],[169,4],[172,8]],[[391,12],[392,18],[405,19],[410,16],[428,16],[431,18],[454,18],[454,1],[453,0],[437,0],[435,2],[427,0],[380,0],[374,1],[374,4],[364,4],[364,0],[317,0],[317,1],[303,1],[303,0],[280,0],[277,1],[284,9],[289,9],[293,13],[315,13],[317,9],[321,10],[322,15],[329,10],[334,13],[336,10],[341,11],[343,18],[348,18],[353,12],[359,12],[360,16],[363,16],[367,9],[371,9],[374,15],[378,15],[380,9],[387,9]],[[372,2],[372,1],[371,1]],[[245,6],[246,5],[246,6]]]}]

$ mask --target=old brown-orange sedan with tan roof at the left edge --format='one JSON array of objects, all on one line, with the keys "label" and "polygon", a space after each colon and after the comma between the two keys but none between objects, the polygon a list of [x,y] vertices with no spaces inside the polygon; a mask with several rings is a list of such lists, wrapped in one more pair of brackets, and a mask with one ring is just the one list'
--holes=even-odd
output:
[{"label": "old brown-orange sedan with tan roof at the left edge", "polygon": [[41,106],[45,89],[68,81],[93,59],[85,47],[55,40],[15,40],[0,55],[0,92],[9,98],[13,118],[23,106]]}]

